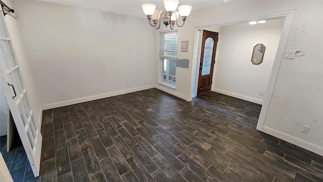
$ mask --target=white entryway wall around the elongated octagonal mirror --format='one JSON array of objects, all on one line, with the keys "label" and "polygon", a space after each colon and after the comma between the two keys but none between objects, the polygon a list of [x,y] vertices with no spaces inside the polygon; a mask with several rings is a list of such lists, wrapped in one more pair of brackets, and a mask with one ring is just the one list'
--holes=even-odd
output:
[{"label": "white entryway wall around the elongated octagonal mirror", "polygon": [[[212,90],[262,104],[283,24],[284,19],[278,19],[222,26]],[[254,65],[250,60],[257,43],[263,43],[266,49],[262,63]],[[259,92],[264,92],[263,96]]]}]

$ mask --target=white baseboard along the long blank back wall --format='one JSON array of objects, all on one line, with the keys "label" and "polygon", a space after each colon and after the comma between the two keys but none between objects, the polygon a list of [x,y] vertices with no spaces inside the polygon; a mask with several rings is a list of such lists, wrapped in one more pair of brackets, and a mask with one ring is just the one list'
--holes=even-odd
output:
[{"label": "white baseboard along the long blank back wall", "polygon": [[72,104],[94,101],[97,99],[103,99],[103,98],[118,96],[118,95],[122,95],[122,94],[129,94],[129,93],[138,92],[140,90],[150,89],[150,88],[154,88],[154,87],[155,87],[155,85],[147,85],[147,86],[141,86],[141,87],[137,87],[137,88],[119,90],[119,91],[111,92],[111,93],[105,93],[105,94],[99,94],[99,95],[94,95],[94,96],[89,96],[89,97],[72,99],[72,100],[68,100],[68,101],[56,102],[56,103],[52,103],[52,104],[45,104],[42,106],[42,110],[53,109],[53,108],[58,108],[58,107],[63,107],[63,106],[69,106]]}]

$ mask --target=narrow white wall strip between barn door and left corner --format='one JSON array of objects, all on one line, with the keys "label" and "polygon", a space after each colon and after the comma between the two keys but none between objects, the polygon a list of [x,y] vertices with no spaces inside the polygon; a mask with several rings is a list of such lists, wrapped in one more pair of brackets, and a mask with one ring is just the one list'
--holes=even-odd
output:
[{"label": "narrow white wall strip between barn door and left corner", "polygon": [[[4,3],[9,7],[15,9],[15,6],[12,5],[12,1],[4,1]],[[38,89],[36,88],[34,83],[33,74],[29,62],[30,60],[26,56],[25,47],[23,46],[21,41],[21,29],[18,28],[17,20],[14,17],[6,15],[5,21],[17,56],[17,61],[20,66],[20,71],[27,90],[30,105],[33,109],[34,118],[40,124],[42,116],[41,104],[38,96]]]}]

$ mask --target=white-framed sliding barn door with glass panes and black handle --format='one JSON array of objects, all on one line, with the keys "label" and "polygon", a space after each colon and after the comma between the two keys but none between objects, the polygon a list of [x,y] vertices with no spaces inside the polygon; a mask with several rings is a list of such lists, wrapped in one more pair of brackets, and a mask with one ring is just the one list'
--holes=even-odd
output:
[{"label": "white-framed sliding barn door with glass panes and black handle", "polygon": [[34,176],[39,176],[41,142],[40,128],[36,124],[28,94],[20,73],[17,57],[0,9],[0,77],[1,86],[14,118],[20,139]]}]

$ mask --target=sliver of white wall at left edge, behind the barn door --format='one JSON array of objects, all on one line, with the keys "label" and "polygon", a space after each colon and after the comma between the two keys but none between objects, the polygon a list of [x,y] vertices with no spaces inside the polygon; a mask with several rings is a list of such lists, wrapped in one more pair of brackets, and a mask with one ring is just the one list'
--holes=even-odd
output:
[{"label": "sliver of white wall at left edge, behind the barn door", "polygon": [[6,96],[0,85],[0,136],[7,135],[7,112]]}]

